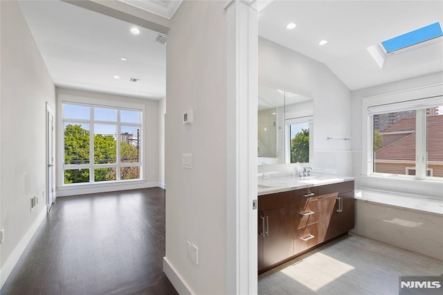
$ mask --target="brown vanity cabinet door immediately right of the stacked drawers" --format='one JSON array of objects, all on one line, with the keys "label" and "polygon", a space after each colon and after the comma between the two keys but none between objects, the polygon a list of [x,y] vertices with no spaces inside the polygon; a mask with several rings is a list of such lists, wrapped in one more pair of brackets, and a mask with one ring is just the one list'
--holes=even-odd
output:
[{"label": "brown vanity cabinet door immediately right of the stacked drawers", "polygon": [[330,194],[322,196],[317,201],[318,206],[318,242],[325,242],[330,238],[334,238],[338,233],[337,226],[339,224],[336,205],[338,194]]}]

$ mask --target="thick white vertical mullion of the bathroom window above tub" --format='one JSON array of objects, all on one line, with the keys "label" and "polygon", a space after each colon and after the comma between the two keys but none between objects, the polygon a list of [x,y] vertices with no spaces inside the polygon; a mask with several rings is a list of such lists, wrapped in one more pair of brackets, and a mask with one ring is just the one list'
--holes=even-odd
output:
[{"label": "thick white vertical mullion of the bathroom window above tub", "polygon": [[426,109],[417,109],[415,118],[415,177],[426,177]]}]

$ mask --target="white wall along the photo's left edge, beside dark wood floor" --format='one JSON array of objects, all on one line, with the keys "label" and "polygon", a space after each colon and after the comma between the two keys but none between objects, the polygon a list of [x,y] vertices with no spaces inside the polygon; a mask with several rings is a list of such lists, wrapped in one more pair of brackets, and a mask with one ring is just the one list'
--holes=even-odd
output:
[{"label": "white wall along the photo's left edge, beside dark wood floor", "polygon": [[0,3],[3,285],[46,213],[46,102],[55,109],[55,87],[17,2]]}]

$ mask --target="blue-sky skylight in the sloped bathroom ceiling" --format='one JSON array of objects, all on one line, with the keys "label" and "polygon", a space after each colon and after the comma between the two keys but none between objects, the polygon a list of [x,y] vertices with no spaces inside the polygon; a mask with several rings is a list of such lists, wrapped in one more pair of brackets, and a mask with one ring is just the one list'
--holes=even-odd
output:
[{"label": "blue-sky skylight in the sloped bathroom ceiling", "polygon": [[415,44],[426,42],[428,40],[442,36],[442,28],[440,23],[430,24],[429,26],[424,26],[423,28],[418,28],[409,33],[393,37],[386,41],[381,42],[383,48],[385,48],[387,53],[392,53]]}]

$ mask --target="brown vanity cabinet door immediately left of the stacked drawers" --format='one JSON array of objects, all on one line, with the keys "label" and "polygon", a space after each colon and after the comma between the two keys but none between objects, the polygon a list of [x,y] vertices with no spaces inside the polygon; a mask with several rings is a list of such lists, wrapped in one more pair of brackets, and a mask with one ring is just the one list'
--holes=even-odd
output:
[{"label": "brown vanity cabinet door immediately left of the stacked drawers", "polygon": [[264,211],[263,268],[293,256],[293,206]]}]

